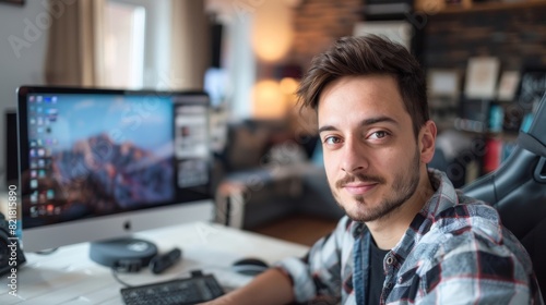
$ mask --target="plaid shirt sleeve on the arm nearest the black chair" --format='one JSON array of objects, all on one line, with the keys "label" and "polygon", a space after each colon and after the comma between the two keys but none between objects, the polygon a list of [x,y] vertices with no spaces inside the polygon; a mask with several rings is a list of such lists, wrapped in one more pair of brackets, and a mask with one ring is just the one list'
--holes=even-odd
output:
[{"label": "plaid shirt sleeve on the arm nearest the black chair", "polygon": [[418,303],[543,304],[539,296],[533,300],[534,282],[522,263],[526,254],[507,247],[513,241],[505,239],[503,244],[497,244],[465,232],[450,242],[448,247],[443,245],[437,264],[422,276],[423,298]]}]

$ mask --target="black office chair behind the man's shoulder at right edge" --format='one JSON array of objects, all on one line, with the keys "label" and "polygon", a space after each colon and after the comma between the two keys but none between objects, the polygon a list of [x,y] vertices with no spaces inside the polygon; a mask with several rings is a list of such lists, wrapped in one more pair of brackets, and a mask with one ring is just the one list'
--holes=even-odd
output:
[{"label": "black office chair behind the man's shoulder at right edge", "polygon": [[546,296],[546,94],[510,157],[462,190],[497,208],[505,227],[527,249]]}]

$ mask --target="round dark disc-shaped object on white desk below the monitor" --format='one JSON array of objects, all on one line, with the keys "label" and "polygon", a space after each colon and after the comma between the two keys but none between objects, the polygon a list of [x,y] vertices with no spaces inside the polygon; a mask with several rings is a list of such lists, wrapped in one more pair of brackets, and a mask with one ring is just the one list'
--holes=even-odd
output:
[{"label": "round dark disc-shaped object on white desk below the monitor", "polygon": [[157,246],[140,239],[116,239],[90,243],[90,258],[120,272],[138,272],[157,255]]}]

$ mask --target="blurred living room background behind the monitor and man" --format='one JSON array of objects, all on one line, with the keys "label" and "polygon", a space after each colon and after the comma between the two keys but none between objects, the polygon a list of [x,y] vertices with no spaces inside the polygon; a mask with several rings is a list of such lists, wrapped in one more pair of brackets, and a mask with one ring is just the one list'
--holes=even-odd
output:
[{"label": "blurred living room background behind the monitor and man", "polygon": [[21,85],[205,90],[216,221],[310,245],[343,212],[294,91],[314,54],[368,33],[426,70],[430,167],[456,187],[497,169],[546,89],[544,0],[3,0],[2,186]]}]

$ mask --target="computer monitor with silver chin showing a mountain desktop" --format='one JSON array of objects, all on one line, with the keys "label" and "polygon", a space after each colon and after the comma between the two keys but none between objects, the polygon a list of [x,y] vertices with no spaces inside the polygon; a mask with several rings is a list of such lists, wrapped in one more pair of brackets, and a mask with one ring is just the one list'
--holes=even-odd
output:
[{"label": "computer monitor with silver chin showing a mountain desktop", "polygon": [[25,252],[212,220],[206,94],[23,86],[17,96]]}]

